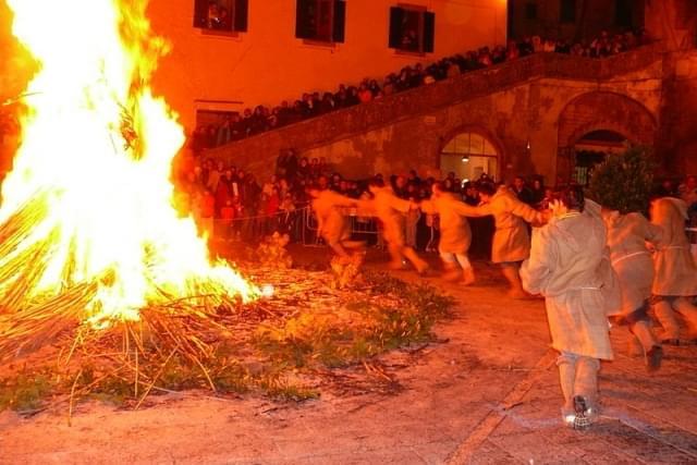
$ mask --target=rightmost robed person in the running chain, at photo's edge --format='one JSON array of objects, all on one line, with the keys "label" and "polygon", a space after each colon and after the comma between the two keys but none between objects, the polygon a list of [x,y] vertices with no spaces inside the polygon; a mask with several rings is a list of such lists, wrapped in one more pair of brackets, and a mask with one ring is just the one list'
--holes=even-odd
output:
[{"label": "rightmost robed person in the running chain, at photo's edge", "polygon": [[653,310],[663,327],[661,341],[677,345],[681,328],[676,311],[687,321],[687,339],[697,339],[697,307],[689,302],[697,295],[697,266],[685,235],[687,204],[674,197],[658,198],[651,203],[650,216],[651,223],[662,228],[653,253]]}]

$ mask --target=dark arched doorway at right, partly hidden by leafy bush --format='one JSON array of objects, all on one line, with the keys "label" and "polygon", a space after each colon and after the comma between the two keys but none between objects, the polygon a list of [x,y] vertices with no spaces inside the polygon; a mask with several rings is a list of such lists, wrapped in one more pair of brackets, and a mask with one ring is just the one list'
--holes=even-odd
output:
[{"label": "dark arched doorway at right, partly hidden by leafy bush", "polygon": [[624,151],[627,138],[610,130],[591,131],[582,136],[573,147],[574,171],[572,181],[587,186],[592,172],[609,156]]}]

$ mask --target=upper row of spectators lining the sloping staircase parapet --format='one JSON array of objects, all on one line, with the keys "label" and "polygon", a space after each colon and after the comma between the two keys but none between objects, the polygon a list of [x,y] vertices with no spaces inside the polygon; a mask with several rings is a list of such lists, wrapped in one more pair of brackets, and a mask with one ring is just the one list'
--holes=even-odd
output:
[{"label": "upper row of spectators lining the sloping staircase parapet", "polygon": [[505,47],[482,47],[464,54],[443,58],[426,66],[420,63],[405,66],[399,73],[389,74],[381,84],[376,79],[366,78],[358,85],[341,84],[335,93],[306,93],[294,102],[285,100],[272,109],[265,106],[245,109],[242,114],[227,117],[220,125],[209,124],[197,127],[192,135],[192,148],[195,154],[199,154],[204,149],[232,140],[533,53],[557,52],[603,58],[621,53],[646,41],[644,34],[631,32],[615,36],[602,33],[595,40],[575,44],[566,40],[545,40],[539,36],[519,41],[510,40]]}]

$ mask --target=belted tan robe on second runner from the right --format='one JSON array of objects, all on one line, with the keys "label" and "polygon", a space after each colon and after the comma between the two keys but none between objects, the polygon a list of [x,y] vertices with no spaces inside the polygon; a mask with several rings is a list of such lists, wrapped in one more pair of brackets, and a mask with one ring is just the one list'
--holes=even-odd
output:
[{"label": "belted tan robe on second runner from the right", "polygon": [[646,243],[661,238],[661,228],[651,224],[641,213],[602,213],[607,229],[610,261],[622,290],[621,307],[610,315],[629,315],[651,296],[653,260]]}]

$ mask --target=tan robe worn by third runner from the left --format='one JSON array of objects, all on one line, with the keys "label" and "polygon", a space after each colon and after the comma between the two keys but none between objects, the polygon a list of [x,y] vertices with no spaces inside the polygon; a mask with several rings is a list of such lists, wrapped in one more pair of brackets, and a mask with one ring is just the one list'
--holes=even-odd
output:
[{"label": "tan robe worn by third runner from the left", "polygon": [[441,254],[466,254],[472,243],[472,230],[466,216],[473,216],[476,207],[460,200],[454,194],[440,193],[420,203],[421,211],[440,217]]}]

